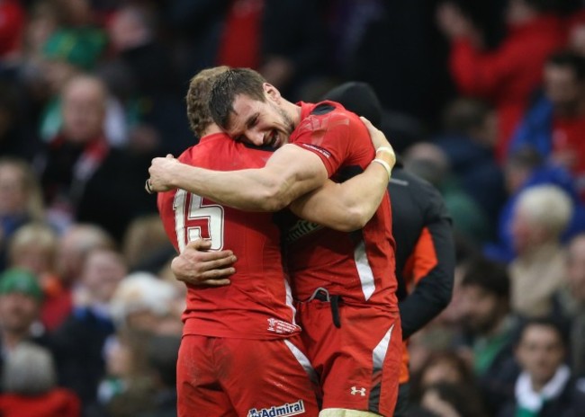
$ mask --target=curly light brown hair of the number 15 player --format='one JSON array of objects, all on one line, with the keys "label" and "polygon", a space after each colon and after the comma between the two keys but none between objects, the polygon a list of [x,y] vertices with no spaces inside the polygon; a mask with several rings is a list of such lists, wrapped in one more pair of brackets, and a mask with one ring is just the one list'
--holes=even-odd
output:
[{"label": "curly light brown hair of the number 15 player", "polygon": [[209,97],[213,79],[229,67],[213,67],[203,69],[197,75],[191,78],[189,90],[184,100],[187,102],[187,120],[193,133],[201,138],[205,129],[211,125],[211,112],[209,111]]}]

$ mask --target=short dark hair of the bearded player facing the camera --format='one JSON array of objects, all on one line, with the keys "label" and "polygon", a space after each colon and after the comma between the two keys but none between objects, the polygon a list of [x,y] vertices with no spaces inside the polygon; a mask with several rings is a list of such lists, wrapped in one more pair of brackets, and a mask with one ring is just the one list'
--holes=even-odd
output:
[{"label": "short dark hair of the bearded player facing the camera", "polygon": [[250,68],[231,68],[218,75],[213,81],[209,102],[213,121],[220,125],[220,128],[228,129],[229,113],[234,111],[234,100],[240,94],[265,102],[263,87],[265,83],[264,77]]}]

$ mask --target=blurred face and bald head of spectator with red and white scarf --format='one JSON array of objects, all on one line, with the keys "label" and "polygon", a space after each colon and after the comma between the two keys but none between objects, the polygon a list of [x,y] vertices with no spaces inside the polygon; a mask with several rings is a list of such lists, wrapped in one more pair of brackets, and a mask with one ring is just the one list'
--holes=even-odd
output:
[{"label": "blurred face and bald head of spectator with red and white scarf", "polygon": [[91,77],[75,78],[63,91],[63,132],[68,141],[84,144],[102,134],[105,90]]}]

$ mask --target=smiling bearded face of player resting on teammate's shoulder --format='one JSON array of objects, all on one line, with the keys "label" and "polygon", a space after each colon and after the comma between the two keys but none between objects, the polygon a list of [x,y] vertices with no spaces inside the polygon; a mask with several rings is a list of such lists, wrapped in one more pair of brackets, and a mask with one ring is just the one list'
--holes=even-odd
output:
[{"label": "smiling bearded face of player resting on teammate's shoulder", "polygon": [[265,84],[266,101],[260,102],[245,94],[236,96],[229,116],[229,136],[256,146],[278,148],[288,142],[294,122],[278,105],[280,93]]}]

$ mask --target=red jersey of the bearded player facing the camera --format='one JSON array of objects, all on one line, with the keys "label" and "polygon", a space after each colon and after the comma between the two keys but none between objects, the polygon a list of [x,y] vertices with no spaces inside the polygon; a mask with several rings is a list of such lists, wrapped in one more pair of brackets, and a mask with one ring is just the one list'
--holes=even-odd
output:
[{"label": "red jersey of the bearded player facing the camera", "polygon": [[[291,142],[319,155],[333,180],[363,172],[375,152],[356,114],[337,102],[300,105],[302,121]],[[299,220],[289,230],[286,242],[287,263],[299,300],[308,299],[317,288],[327,288],[346,303],[367,301],[398,311],[387,194],[362,230],[349,234]]]}]

